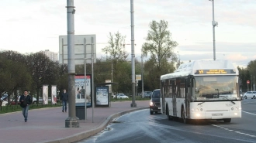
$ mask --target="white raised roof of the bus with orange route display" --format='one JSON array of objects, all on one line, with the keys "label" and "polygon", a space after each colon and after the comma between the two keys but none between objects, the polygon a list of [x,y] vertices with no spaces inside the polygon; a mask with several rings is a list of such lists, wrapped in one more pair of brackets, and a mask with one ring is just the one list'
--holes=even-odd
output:
[{"label": "white raised roof of the bus with orange route display", "polygon": [[175,73],[162,75],[161,80],[189,75],[238,75],[238,70],[229,60],[195,60],[178,66]]}]

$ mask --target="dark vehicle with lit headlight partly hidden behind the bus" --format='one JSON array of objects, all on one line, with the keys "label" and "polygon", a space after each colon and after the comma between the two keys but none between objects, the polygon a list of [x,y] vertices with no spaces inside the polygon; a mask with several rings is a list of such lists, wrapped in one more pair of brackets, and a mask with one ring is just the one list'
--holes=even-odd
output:
[{"label": "dark vehicle with lit headlight partly hidden behind the bus", "polygon": [[158,113],[161,111],[160,106],[160,89],[154,90],[150,100],[150,114]]}]

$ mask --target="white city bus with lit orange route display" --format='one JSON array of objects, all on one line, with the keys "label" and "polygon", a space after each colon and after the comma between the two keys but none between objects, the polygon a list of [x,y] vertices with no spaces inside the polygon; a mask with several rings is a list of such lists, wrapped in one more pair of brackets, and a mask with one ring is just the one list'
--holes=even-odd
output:
[{"label": "white city bus with lit orange route display", "polygon": [[200,60],[182,64],[161,76],[161,113],[230,122],[241,117],[238,70],[228,60]]}]

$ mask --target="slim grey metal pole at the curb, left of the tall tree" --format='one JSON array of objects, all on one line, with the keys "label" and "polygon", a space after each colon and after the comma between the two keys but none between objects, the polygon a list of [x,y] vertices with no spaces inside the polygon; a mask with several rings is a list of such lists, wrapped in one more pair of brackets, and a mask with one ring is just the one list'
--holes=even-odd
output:
[{"label": "slim grey metal pole at the curb, left of the tall tree", "polygon": [[130,0],[130,22],[131,22],[131,51],[132,51],[132,93],[133,93],[133,101],[130,104],[130,107],[137,107],[135,103],[135,55],[134,55],[134,21],[133,21],[133,0]]}]

